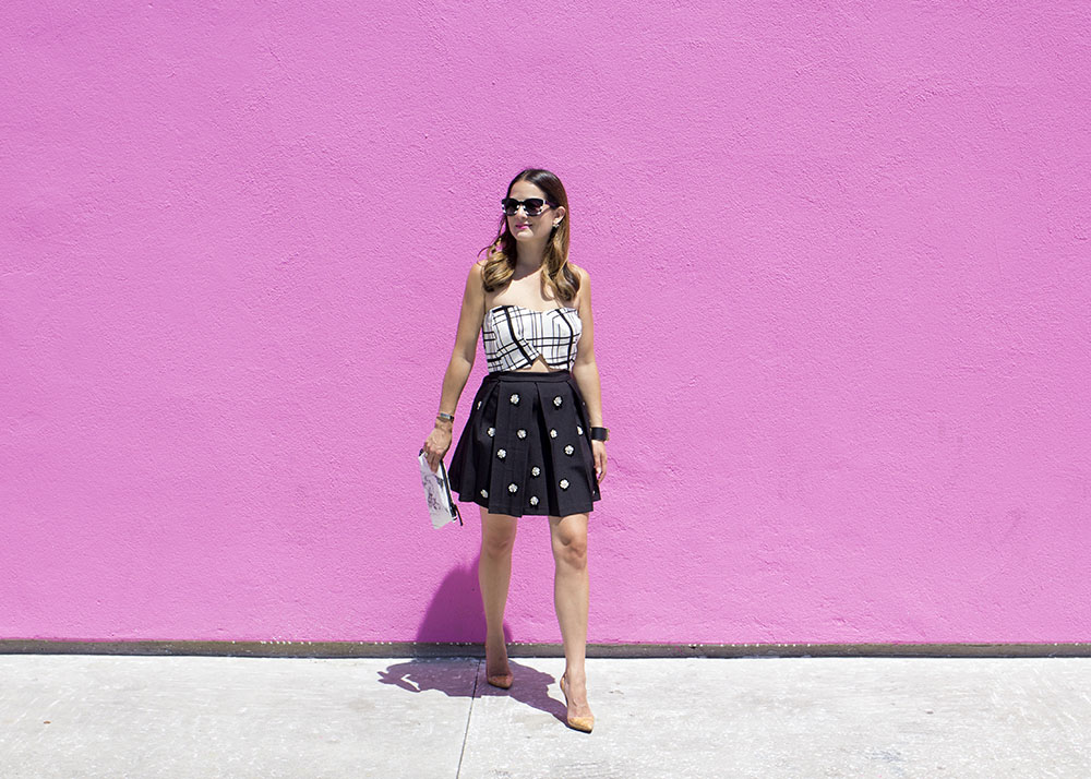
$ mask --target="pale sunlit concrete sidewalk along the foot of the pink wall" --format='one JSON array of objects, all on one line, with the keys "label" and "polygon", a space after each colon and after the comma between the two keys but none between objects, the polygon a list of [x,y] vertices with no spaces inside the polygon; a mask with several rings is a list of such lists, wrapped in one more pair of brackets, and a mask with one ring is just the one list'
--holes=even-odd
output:
[{"label": "pale sunlit concrete sidewalk along the foot of the pink wall", "polygon": [[1091,659],[0,656],[0,777],[1091,777]]}]

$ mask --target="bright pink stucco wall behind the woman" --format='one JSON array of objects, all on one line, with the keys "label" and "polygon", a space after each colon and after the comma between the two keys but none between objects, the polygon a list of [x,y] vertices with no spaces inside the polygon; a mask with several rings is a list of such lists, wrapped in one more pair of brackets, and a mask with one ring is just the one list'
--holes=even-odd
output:
[{"label": "bright pink stucco wall behind the woman", "polygon": [[1089,8],[10,0],[0,638],[480,638],[415,456],[537,165],[590,640],[1091,639]]}]

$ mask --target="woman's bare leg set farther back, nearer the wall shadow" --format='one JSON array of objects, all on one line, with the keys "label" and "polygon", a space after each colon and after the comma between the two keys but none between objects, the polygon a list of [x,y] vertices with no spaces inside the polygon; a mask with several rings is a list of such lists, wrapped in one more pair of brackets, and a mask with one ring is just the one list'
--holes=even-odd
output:
[{"label": "woman's bare leg set farther back, nearer the wall shadow", "polygon": [[490,684],[508,687],[512,669],[507,664],[504,643],[504,607],[512,580],[512,548],[518,522],[504,514],[490,514],[481,508],[481,558],[478,560],[478,583],[484,607],[487,633],[484,639],[484,674]]}]

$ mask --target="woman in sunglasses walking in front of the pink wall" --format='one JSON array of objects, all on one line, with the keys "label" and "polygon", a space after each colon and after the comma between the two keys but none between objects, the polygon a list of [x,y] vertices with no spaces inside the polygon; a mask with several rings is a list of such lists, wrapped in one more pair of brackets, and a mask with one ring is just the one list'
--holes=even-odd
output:
[{"label": "woman in sunglasses walking in front of the pink wall", "polygon": [[455,407],[484,341],[489,375],[473,398],[451,462],[451,484],[481,506],[478,579],[485,623],[485,679],[506,690],[512,671],[504,606],[517,518],[548,516],[553,599],[564,639],[561,691],[570,728],[590,732],[587,517],[607,471],[591,285],[568,263],[568,199],[548,170],[520,171],[507,188],[496,240],[466,280],[440,412],[424,443],[434,470],[451,447]]}]

